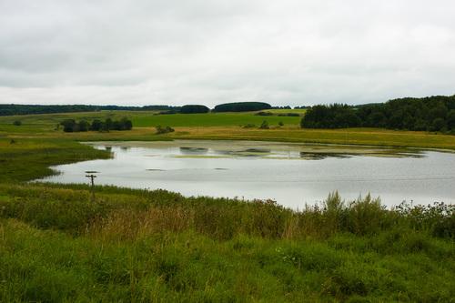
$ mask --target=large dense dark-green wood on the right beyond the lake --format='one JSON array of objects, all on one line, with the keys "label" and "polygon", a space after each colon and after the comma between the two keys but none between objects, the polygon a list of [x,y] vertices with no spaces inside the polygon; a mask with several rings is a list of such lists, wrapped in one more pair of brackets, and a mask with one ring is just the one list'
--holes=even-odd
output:
[{"label": "large dense dark-green wood on the right beyond the lake", "polygon": [[305,128],[382,127],[455,132],[455,96],[400,98],[381,104],[333,104],[308,108]]}]

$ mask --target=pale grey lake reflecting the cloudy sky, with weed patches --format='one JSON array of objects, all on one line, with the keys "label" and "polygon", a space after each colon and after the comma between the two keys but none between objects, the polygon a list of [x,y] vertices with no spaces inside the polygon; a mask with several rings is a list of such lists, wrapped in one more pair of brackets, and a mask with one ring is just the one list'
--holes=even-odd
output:
[{"label": "pale grey lake reflecting the cloudy sky, with weed patches", "polygon": [[176,140],[86,143],[113,158],[52,167],[37,181],[163,188],[185,196],[276,200],[302,208],[338,190],[355,199],[371,193],[386,206],[455,200],[455,154],[416,149],[288,144],[256,141]]}]

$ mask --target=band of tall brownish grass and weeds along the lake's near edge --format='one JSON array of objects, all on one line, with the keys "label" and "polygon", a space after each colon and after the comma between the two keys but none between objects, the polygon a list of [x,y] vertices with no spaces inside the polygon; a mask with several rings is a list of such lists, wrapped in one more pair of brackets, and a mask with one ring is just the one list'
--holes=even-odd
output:
[{"label": "band of tall brownish grass and weeds along the lake's near edge", "polygon": [[71,233],[138,235],[194,230],[216,239],[239,234],[265,238],[326,238],[338,233],[378,235],[397,228],[432,237],[455,237],[455,206],[401,204],[387,209],[379,198],[345,202],[337,192],[323,205],[290,210],[271,200],[182,197],[165,190],[145,191],[96,187],[96,200],[86,186],[5,186],[0,190],[2,217],[15,217],[35,227]]}]

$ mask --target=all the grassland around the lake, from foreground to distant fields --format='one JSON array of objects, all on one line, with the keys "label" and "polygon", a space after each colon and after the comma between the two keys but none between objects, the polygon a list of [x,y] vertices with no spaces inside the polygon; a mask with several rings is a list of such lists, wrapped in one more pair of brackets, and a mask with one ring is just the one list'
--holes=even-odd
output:
[{"label": "all the grassland around the lake, from foreground to distant fields", "polygon": [[[269,200],[119,187],[95,187],[92,198],[85,185],[27,183],[53,174],[51,165],[110,157],[81,140],[237,138],[455,149],[455,136],[302,130],[298,117],[213,114],[226,119],[221,123],[212,114],[150,114],[0,117],[1,302],[455,301],[453,206],[386,209],[375,197],[343,201],[332,193],[323,205],[295,211]],[[74,134],[56,128],[68,116],[106,115],[132,117],[135,128]],[[156,118],[176,132],[155,135]],[[268,118],[277,119],[271,129],[238,126]],[[13,126],[16,119],[22,126]]]}]

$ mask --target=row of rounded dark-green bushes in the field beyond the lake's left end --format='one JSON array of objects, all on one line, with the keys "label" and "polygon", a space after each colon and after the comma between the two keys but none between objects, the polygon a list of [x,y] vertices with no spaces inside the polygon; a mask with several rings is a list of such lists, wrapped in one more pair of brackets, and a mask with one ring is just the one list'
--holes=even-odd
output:
[{"label": "row of rounded dark-green bushes in the field beyond the lake's left end", "polygon": [[110,130],[131,130],[133,123],[128,118],[124,117],[120,120],[112,120],[107,118],[105,121],[95,119],[92,123],[86,120],[76,122],[75,119],[66,119],[60,123],[63,126],[63,131],[66,133],[92,131],[110,131]]}]

